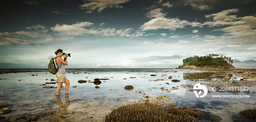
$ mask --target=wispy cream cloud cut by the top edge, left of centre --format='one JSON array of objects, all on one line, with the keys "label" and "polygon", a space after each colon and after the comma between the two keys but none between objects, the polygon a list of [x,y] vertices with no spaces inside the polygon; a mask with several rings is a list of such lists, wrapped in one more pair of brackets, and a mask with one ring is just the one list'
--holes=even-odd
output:
[{"label": "wispy cream cloud cut by the top edge, left of centre", "polygon": [[101,12],[105,8],[123,8],[119,4],[127,3],[130,0],[86,0],[83,5],[80,5],[82,9],[89,9],[91,13],[94,10]]}]

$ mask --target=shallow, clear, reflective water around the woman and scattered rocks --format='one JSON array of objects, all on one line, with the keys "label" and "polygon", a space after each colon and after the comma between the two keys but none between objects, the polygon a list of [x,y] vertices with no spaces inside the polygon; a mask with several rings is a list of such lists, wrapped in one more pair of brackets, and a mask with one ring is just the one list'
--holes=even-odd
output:
[{"label": "shallow, clear, reflective water around the woman and scattered rocks", "polygon": [[[73,72],[78,74],[73,74]],[[38,76],[31,76],[32,74]],[[151,74],[157,76],[150,76]],[[3,120],[17,122],[19,120],[15,119],[20,115],[36,117],[38,122],[102,122],[105,115],[111,112],[111,108],[144,98],[143,93],[146,93],[150,98],[155,98],[157,95],[169,95],[172,100],[165,101],[166,103],[163,105],[174,102],[177,107],[187,106],[202,110],[204,115],[199,117],[202,122],[249,121],[239,112],[245,108],[256,107],[256,94],[252,93],[252,91],[256,91],[256,88],[253,86],[249,88],[251,93],[239,93],[240,95],[250,95],[250,98],[212,98],[212,94],[233,94],[212,91],[212,87],[207,85],[205,86],[212,93],[208,93],[203,98],[196,98],[194,92],[188,91],[192,88],[180,87],[183,84],[209,84],[211,81],[223,80],[225,75],[227,73],[191,69],[67,69],[66,76],[70,81],[69,94],[66,96],[65,90],[62,89],[60,98],[56,98],[55,88],[46,89],[42,86],[45,82],[54,82],[50,79],[57,80],[53,74],[48,72],[0,74],[2,79],[0,80],[0,95],[3,96],[0,97],[0,103],[5,103],[7,106],[4,107],[12,109],[11,113],[0,116],[5,117]],[[169,76],[172,76],[172,79],[169,79]],[[237,76],[232,76],[231,79],[233,77]],[[100,85],[88,82],[89,80],[94,81],[95,78],[109,78],[109,80],[101,80]],[[238,78],[240,79],[240,77]],[[174,79],[180,80],[180,82],[172,82],[171,80]],[[79,84],[78,80],[87,82]],[[124,87],[127,85],[132,85],[134,89],[125,90]],[[46,86],[57,87],[57,84],[47,84]],[[63,86],[65,87],[65,85]],[[73,88],[72,86],[77,87]],[[99,89],[96,89],[95,86],[99,86]],[[162,91],[161,87],[164,89],[177,87],[179,89],[169,90],[170,93],[168,93]],[[136,93],[136,91],[142,93]]]}]

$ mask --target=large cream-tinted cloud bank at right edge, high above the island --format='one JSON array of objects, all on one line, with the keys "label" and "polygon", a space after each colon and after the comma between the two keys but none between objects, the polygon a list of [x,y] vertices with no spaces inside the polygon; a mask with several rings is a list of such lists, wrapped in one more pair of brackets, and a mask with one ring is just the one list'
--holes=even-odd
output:
[{"label": "large cream-tinted cloud bank at right edge, high above the island", "polygon": [[233,38],[255,40],[256,31],[254,28],[256,28],[256,17],[245,16],[237,18],[237,15],[231,15],[231,13],[236,12],[238,12],[238,9],[228,9],[219,13],[205,15],[206,18],[212,19],[212,21],[207,21],[202,25],[208,25],[209,27],[230,25],[229,27],[215,29],[214,31],[226,32],[221,34],[221,36],[232,35]]}]

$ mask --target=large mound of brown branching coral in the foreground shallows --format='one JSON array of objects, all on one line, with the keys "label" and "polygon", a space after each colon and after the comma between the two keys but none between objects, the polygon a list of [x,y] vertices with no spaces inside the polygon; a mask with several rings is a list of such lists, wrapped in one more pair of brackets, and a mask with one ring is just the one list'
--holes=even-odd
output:
[{"label": "large mound of brown branching coral in the foreground shallows", "polygon": [[105,122],[200,122],[175,104],[133,103],[121,105],[106,115]]}]

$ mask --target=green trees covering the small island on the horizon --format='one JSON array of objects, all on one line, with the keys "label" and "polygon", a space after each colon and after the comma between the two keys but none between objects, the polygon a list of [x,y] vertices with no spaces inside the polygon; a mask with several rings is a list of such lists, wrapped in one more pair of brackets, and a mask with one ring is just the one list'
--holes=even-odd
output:
[{"label": "green trees covering the small island on the horizon", "polygon": [[213,68],[234,68],[232,66],[233,60],[230,57],[219,56],[217,54],[209,54],[208,56],[199,57],[188,57],[183,59],[184,65],[195,65],[196,67],[210,66]]}]

